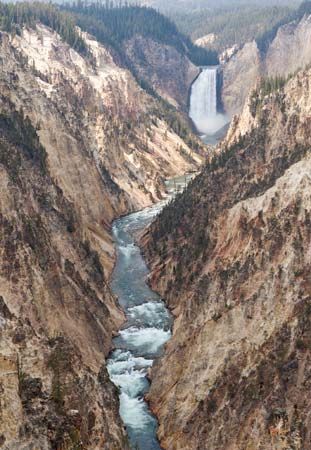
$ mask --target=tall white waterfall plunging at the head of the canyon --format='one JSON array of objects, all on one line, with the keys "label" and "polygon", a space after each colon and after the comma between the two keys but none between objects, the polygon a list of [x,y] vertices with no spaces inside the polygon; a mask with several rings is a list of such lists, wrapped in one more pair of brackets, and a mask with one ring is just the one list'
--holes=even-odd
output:
[{"label": "tall white waterfall plunging at the head of the canyon", "polygon": [[227,123],[217,113],[217,66],[202,69],[191,88],[189,116],[200,133],[215,134]]}]

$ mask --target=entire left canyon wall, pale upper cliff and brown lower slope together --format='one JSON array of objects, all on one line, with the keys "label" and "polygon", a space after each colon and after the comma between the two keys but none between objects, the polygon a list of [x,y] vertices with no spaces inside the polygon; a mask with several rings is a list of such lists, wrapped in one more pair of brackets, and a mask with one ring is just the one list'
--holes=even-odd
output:
[{"label": "entire left canyon wall, pale upper cliff and brown lower slope together", "polygon": [[111,221],[202,161],[157,101],[84,38],[89,58],[39,24],[0,36],[6,450],[128,448],[104,364],[123,321],[108,287]]}]

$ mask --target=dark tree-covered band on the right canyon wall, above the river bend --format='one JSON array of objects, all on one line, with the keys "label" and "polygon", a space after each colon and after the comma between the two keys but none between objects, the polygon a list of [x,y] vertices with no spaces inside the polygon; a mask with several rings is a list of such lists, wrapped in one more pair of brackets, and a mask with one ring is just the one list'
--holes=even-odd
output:
[{"label": "dark tree-covered band on the right canyon wall, above the river bend", "polygon": [[[281,81],[265,83],[273,89],[282,84]],[[281,91],[281,87],[278,89]],[[286,113],[282,95],[276,92],[274,101]],[[177,295],[181,286],[190,289],[201,273],[215,248],[213,236],[217,233],[213,226],[219,213],[238,201],[262,195],[292,164],[310,152],[308,147],[295,143],[292,147],[274,148],[271,156],[271,130],[266,115],[259,116],[258,128],[211,159],[184,193],[168,204],[151,225],[148,254],[165,258],[170,248],[172,259],[178,262],[165,292],[167,298],[171,292]],[[259,171],[260,178],[256,176]],[[189,267],[193,268],[191,272]]]}]

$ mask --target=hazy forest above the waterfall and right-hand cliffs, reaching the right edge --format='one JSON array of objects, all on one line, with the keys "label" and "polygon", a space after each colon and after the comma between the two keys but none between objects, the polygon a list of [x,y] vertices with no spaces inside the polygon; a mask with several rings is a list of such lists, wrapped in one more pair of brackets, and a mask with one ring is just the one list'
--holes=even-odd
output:
[{"label": "hazy forest above the waterfall and right-hand cliffs, reaching the right edge", "polygon": [[[187,6],[186,6],[187,5]],[[300,6],[299,6],[300,5]],[[177,9],[177,7],[176,7]],[[310,2],[243,2],[224,0],[220,3],[203,1],[190,9],[185,2],[183,8],[170,9],[168,14],[181,32],[189,34],[193,40],[210,33],[216,39],[211,49],[222,51],[234,44],[244,44],[255,39],[264,53],[274,39],[280,26],[294,20],[300,20],[304,14],[310,14]]]}]

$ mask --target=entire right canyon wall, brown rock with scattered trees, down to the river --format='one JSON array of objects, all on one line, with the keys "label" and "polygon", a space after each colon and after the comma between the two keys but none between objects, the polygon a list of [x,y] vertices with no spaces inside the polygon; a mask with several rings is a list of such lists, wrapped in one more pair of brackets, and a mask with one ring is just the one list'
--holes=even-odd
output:
[{"label": "entire right canyon wall, brown rock with scattered trees, down to the river", "polygon": [[310,448],[310,83],[254,94],[142,238],[176,316],[148,394],[165,449]]}]

